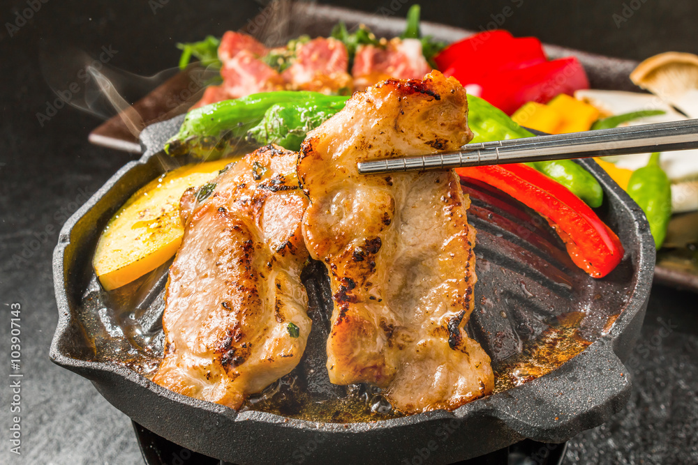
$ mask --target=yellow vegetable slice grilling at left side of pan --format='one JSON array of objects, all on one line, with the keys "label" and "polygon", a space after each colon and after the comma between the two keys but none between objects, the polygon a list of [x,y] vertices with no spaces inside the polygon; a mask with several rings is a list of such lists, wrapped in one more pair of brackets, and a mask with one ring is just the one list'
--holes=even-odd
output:
[{"label": "yellow vegetable slice grilling at left side of pan", "polygon": [[94,254],[94,270],[107,291],[161,266],[177,252],[184,234],[179,199],[204,185],[233,160],[187,165],[138,190],[105,227]]}]

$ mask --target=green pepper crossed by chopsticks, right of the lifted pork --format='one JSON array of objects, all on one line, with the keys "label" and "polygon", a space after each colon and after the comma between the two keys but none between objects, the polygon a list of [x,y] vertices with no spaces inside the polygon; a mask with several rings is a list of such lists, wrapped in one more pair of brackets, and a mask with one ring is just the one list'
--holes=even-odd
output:
[{"label": "green pepper crossed by chopsticks, right of the lifted pork", "polygon": [[[475,135],[470,143],[533,137],[531,132],[521,128],[500,109],[471,95],[468,95],[468,126]],[[526,165],[558,181],[589,206],[601,206],[604,199],[601,185],[591,173],[572,160],[530,162]]]}]

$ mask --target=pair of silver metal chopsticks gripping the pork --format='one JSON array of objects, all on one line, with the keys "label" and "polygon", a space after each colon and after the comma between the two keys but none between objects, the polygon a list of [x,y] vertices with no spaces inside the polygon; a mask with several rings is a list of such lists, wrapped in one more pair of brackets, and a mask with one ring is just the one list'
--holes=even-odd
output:
[{"label": "pair of silver metal chopsticks gripping the pork", "polygon": [[468,144],[461,151],[359,162],[359,173],[630,155],[698,148],[698,119]]}]

